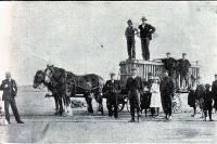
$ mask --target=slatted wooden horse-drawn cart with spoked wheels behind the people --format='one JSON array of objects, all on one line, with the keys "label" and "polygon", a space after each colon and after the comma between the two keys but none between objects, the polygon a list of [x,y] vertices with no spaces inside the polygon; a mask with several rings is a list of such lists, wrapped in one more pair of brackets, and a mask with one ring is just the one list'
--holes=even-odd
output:
[{"label": "slatted wooden horse-drawn cart with spoked wheels behind the people", "polygon": [[[197,82],[197,77],[200,76],[200,66],[196,63],[191,62],[190,67],[190,77],[189,77],[189,83],[190,87],[193,82]],[[122,61],[119,63],[119,81],[122,87],[122,92],[118,95],[118,110],[122,112],[127,106],[127,110],[129,110],[129,102],[128,102],[128,94],[125,89],[127,79],[131,76],[132,68],[137,68],[137,75],[141,77],[142,81],[148,81],[148,74],[152,73],[154,77],[158,77],[159,79],[163,77],[163,70],[164,70],[164,64],[162,62],[152,61],[146,62],[142,60],[127,60]],[[180,78],[178,79],[178,86],[180,86]],[[181,100],[180,94],[188,92],[187,89],[178,90],[175,89],[174,100],[173,100],[173,107],[174,112],[180,112],[181,110]]]}]

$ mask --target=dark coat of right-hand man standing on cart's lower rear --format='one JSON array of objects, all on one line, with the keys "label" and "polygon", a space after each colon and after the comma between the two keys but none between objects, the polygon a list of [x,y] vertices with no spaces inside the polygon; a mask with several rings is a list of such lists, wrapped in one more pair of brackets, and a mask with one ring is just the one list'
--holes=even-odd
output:
[{"label": "dark coat of right-hand man standing on cart's lower rear", "polygon": [[188,74],[189,68],[191,67],[191,64],[189,60],[178,60],[177,70],[182,74]]}]

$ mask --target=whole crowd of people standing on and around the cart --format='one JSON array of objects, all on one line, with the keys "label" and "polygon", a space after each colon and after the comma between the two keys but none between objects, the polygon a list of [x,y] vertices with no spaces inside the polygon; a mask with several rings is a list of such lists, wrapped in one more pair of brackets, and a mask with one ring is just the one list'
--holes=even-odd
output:
[{"label": "whole crowd of people standing on and around the cart", "polygon": [[[132,26],[132,21],[127,22],[128,27],[126,28],[125,36],[127,39],[128,58],[136,58],[135,50],[135,36],[137,35],[141,39],[142,56],[144,61],[150,61],[149,44],[152,40],[152,34],[155,32],[155,28],[146,24],[146,18],[141,18],[142,24],[139,25],[138,29]],[[151,109],[151,116],[155,117],[159,114],[159,107],[163,107],[165,113],[165,119],[171,119],[173,114],[173,97],[175,88],[190,89],[188,95],[188,104],[193,107],[193,115],[196,115],[196,106],[199,105],[203,112],[202,117],[206,120],[207,114],[212,121],[212,109],[213,107],[217,110],[217,75],[215,75],[215,81],[212,84],[201,84],[200,78],[192,78],[193,81],[189,83],[189,68],[191,64],[186,58],[186,53],[182,53],[182,58],[175,60],[170,56],[170,53],[166,53],[165,58],[161,58],[164,64],[163,77],[154,77],[152,73],[149,73],[148,81],[142,81],[141,77],[137,76],[137,69],[131,70],[131,76],[127,79],[126,91],[130,104],[130,116],[129,122],[139,121],[140,113],[144,110],[145,117],[148,109]],[[180,77],[180,86],[179,86]],[[183,83],[183,81],[186,83]],[[196,82],[197,81],[197,82]],[[10,123],[9,106],[11,106],[15,119],[18,123],[23,123],[20,118],[18,110],[16,108],[15,96],[17,87],[15,80],[11,79],[11,74],[5,74],[5,80],[2,81],[0,90],[3,90],[3,101],[5,119]],[[103,87],[103,93],[106,95],[106,106],[108,109],[108,117],[118,118],[118,94],[122,92],[119,80],[115,80],[115,74],[111,74],[111,79],[105,82]],[[213,106],[213,102],[214,106]],[[1,109],[0,109],[1,110]]]}]

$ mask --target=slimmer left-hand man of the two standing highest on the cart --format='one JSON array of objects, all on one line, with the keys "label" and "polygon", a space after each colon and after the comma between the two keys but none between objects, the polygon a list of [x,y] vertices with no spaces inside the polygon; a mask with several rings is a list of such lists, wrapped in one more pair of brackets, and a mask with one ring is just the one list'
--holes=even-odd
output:
[{"label": "slimmer left-hand man of the two standing highest on the cart", "polygon": [[136,50],[135,50],[135,35],[138,34],[138,29],[132,26],[132,21],[127,21],[128,27],[125,30],[125,36],[127,39],[127,52],[128,52],[128,58],[136,58]]}]

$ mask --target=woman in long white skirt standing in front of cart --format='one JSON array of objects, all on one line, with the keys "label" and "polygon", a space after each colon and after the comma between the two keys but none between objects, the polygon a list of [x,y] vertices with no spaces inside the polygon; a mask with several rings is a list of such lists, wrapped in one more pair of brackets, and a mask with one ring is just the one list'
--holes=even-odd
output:
[{"label": "woman in long white skirt standing in front of cart", "polygon": [[161,102],[159,83],[157,77],[154,78],[150,92],[152,93],[151,105],[150,105],[152,117],[154,116],[155,112],[156,115],[158,116],[162,102]]}]

